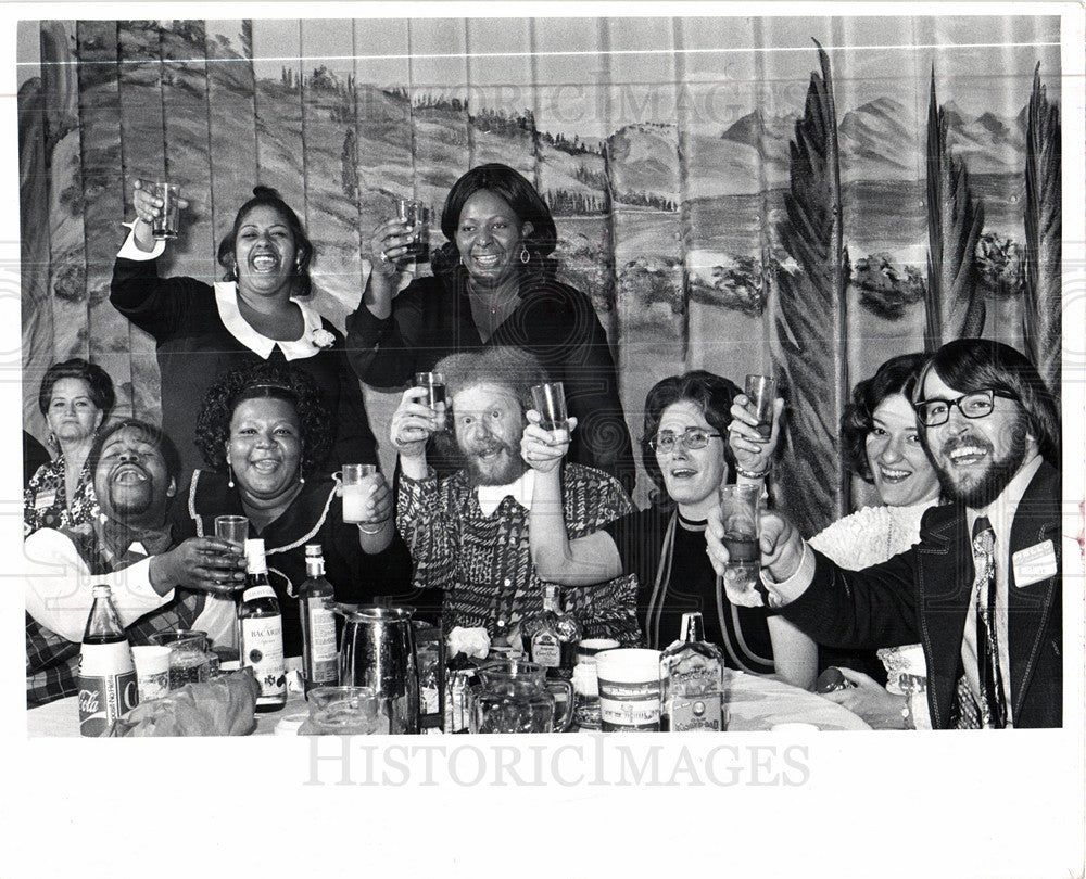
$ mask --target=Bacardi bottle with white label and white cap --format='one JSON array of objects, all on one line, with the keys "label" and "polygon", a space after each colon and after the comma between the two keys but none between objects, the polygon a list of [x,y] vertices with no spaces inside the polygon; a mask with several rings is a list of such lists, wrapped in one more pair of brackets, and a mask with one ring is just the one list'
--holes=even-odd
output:
[{"label": "Bacardi bottle with white label and white cap", "polygon": [[282,614],[268,583],[264,540],[245,540],[245,591],[238,609],[241,665],[253,670],[261,695],[257,711],[278,711],[287,704],[287,672],[282,661]]}]

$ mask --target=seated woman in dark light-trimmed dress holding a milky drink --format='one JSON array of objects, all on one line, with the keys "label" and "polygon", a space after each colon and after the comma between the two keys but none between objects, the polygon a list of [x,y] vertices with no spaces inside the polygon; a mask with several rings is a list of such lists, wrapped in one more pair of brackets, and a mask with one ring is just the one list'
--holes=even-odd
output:
[{"label": "seated woman in dark light-trimmed dress holding a milky drink", "polygon": [[380,474],[365,521],[343,521],[338,485],[318,469],[330,428],[303,370],[256,364],[228,373],[207,391],[197,425],[197,442],[214,469],[194,471],[172,511],[179,538],[213,535],[216,515],[249,519],[249,536],[264,539],[288,657],[302,651],[298,587],[306,578],[306,544],[320,544],[337,601],[370,603],[411,588],[411,556]]}]

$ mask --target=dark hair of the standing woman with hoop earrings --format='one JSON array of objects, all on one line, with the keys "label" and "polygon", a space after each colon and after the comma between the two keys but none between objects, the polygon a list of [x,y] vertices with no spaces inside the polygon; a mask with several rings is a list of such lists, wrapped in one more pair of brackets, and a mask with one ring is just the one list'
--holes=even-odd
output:
[{"label": "dark hair of the standing woman with hoop earrings", "polygon": [[558,230],[551,216],[551,208],[539,192],[519,171],[500,162],[478,165],[463,175],[445,198],[445,206],[441,211],[441,232],[447,243],[435,253],[434,272],[452,270],[460,258],[456,249],[456,227],[460,221],[460,212],[468,199],[481,191],[492,192],[503,199],[521,224],[530,222],[532,231],[523,239],[523,244],[531,254],[528,271],[552,271],[553,266],[545,259],[554,252],[558,243]]}]

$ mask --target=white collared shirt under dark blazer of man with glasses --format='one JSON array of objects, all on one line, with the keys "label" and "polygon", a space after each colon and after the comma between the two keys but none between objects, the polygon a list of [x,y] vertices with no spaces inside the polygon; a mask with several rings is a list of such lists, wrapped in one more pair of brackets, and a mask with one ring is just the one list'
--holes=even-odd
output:
[{"label": "white collared shirt under dark blazer of man with glasses", "polygon": [[[1011,716],[1011,661],[1010,661],[1010,637],[1007,624],[1007,602],[1010,600],[1010,547],[1011,547],[1011,525],[1014,522],[1014,513],[1018,511],[1019,501],[1028,487],[1031,481],[1040,469],[1041,457],[1034,458],[1014,474],[1007,487],[999,494],[992,504],[978,510],[968,508],[965,510],[965,523],[969,526],[969,534],[973,533],[973,523],[981,517],[986,515],[995,532],[996,542],[996,641],[999,645],[999,674],[1002,677],[1003,699],[1007,702],[1007,726],[1013,726]],[[974,560],[974,570],[976,569]],[[976,588],[974,585],[969,601],[969,611],[965,614],[965,636],[961,641],[961,661],[965,668],[965,680],[973,698],[980,703],[981,683],[976,658]]]}]

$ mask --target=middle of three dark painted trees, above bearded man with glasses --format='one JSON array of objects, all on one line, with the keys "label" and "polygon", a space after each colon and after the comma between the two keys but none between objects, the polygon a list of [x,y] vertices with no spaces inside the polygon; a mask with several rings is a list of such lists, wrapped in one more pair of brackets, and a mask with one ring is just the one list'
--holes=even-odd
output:
[{"label": "middle of three dark painted trees, above bearded man with glasses", "polygon": [[974,254],[984,228],[984,205],[974,202],[969,171],[947,145],[947,113],[935,98],[932,68],[927,104],[927,292],[924,351],[984,329]]}]

